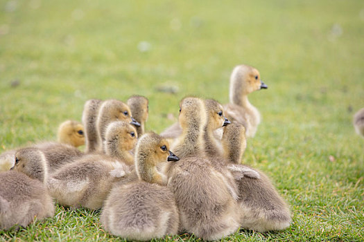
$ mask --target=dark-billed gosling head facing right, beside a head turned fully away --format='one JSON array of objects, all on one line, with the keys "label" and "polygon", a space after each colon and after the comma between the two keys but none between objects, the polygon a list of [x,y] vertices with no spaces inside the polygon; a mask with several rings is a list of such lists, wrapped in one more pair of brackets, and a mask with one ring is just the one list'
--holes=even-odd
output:
[{"label": "dark-billed gosling head facing right, beside a head turned fully away", "polygon": [[225,118],[223,106],[216,100],[205,100],[205,106],[207,111],[207,127],[212,131],[225,127],[231,122]]}]

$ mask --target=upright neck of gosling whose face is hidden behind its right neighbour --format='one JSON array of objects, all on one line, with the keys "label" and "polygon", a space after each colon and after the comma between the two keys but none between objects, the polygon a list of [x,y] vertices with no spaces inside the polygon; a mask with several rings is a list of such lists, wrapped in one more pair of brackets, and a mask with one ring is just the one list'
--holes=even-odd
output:
[{"label": "upright neck of gosling whose face is hidden behind its right neighbour", "polygon": [[85,153],[96,151],[100,145],[101,141],[98,140],[96,120],[98,109],[102,103],[103,101],[98,99],[91,99],[85,102],[82,115],[82,122],[85,127]]}]

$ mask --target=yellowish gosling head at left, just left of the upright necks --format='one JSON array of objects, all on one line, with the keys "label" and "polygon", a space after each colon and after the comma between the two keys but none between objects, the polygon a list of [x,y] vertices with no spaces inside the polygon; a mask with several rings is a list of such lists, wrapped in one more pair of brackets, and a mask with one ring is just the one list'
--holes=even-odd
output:
[{"label": "yellowish gosling head at left, just left of the upright necks", "polygon": [[83,124],[73,120],[62,122],[58,128],[58,142],[74,147],[85,145]]}]

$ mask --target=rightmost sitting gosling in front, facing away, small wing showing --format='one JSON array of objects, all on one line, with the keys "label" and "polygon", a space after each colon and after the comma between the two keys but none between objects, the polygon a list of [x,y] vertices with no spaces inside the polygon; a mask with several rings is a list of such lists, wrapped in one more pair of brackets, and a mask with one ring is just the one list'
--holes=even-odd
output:
[{"label": "rightmost sitting gosling in front, facing away, small wing showing", "polygon": [[245,150],[245,130],[241,124],[225,127],[223,147],[225,157],[232,164],[230,171],[239,186],[239,214],[241,227],[267,232],[283,230],[291,223],[288,205],[272,185],[266,174],[247,165],[240,165]]}]

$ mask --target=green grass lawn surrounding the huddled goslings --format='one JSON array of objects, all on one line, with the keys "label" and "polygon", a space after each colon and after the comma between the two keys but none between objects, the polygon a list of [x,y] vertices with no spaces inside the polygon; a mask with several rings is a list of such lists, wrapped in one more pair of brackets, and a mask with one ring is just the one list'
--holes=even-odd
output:
[{"label": "green grass lawn surrounding the huddled goslings", "polygon": [[[160,132],[185,95],[227,102],[232,68],[250,64],[269,89],[250,95],[263,122],[243,162],[272,178],[293,223],[226,240],[363,241],[364,139],[352,127],[364,106],[363,37],[364,3],[354,0],[0,0],[0,151],[55,140],[58,124],[80,120],[94,97],[145,95],[146,128]],[[0,238],[119,241],[98,219],[58,207]]]}]

